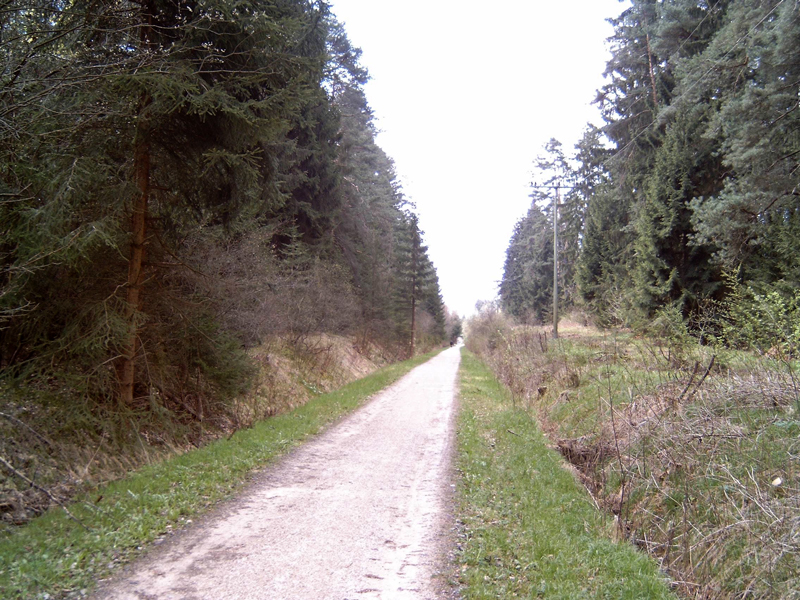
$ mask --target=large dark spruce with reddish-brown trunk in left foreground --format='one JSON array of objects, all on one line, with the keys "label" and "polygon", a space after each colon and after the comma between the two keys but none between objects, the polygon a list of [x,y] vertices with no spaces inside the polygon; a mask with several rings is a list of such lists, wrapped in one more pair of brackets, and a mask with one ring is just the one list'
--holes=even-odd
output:
[{"label": "large dark spruce with reddish-brown trunk in left foreground", "polygon": [[[76,340],[91,338],[87,368],[119,356],[130,404],[156,265],[188,231],[282,201],[270,145],[320,80],[325,31],[319,9],[299,1],[36,8],[38,20],[12,6],[3,24],[4,35],[37,31],[43,44],[5,46],[17,75],[3,80],[2,110],[20,142],[3,147],[3,185],[24,200],[2,209],[4,311],[35,309],[0,346],[81,355]],[[14,275],[31,260],[35,270]],[[49,298],[54,281],[67,297]]]}]

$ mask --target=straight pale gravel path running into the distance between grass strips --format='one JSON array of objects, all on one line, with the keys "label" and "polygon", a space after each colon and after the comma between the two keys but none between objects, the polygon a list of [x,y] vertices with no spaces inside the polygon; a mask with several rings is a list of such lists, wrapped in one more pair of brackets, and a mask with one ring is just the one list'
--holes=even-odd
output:
[{"label": "straight pale gravel path running into the distance between grass strips", "polygon": [[441,597],[459,358],[417,367],[95,598]]}]

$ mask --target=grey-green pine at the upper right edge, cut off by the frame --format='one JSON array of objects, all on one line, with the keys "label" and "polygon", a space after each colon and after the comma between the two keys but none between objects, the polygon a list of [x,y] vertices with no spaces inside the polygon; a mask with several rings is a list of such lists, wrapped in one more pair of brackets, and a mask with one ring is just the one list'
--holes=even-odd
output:
[{"label": "grey-green pine at the upper right edge, cut off by the frame", "polygon": [[[693,202],[698,240],[745,280],[800,283],[800,15],[791,3],[731,2],[727,20],[686,66],[691,98],[713,95],[707,136],[728,170],[719,193]],[[719,65],[719,66],[716,66]]]}]

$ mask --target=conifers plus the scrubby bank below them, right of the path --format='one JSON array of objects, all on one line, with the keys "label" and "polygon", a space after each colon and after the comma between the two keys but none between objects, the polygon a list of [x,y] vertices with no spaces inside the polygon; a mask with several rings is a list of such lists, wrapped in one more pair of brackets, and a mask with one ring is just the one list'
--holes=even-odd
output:
[{"label": "conifers plus the scrubby bank below them, right of the path", "polygon": [[604,124],[536,159],[467,347],[680,597],[797,598],[800,10],[611,23]]}]

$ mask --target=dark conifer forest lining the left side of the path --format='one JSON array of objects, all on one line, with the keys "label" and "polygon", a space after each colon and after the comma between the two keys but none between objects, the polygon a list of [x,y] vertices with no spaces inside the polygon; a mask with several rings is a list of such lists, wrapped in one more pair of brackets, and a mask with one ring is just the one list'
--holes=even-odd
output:
[{"label": "dark conifer forest lining the left side of the path", "polygon": [[[0,4],[5,516],[30,488],[12,475],[55,486],[54,457],[149,461],[273,414],[265,345],[314,358],[345,336],[393,361],[447,341],[457,319],[326,2]],[[242,398],[263,404],[244,421]]]}]

